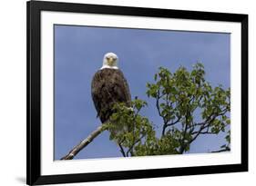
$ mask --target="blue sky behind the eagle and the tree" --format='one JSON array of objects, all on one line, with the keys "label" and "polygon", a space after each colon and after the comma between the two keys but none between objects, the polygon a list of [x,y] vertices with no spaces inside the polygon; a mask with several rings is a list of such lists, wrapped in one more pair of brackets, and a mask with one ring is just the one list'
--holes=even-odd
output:
[{"label": "blue sky behind the eagle and the tree", "polygon": [[[131,96],[146,100],[142,114],[161,122],[155,102],[146,95],[159,66],[175,72],[204,64],[213,86],[230,87],[230,34],[55,25],[55,159],[58,160],[100,124],[90,83],[104,54],[118,54]],[[118,146],[103,132],[76,159],[121,157]],[[189,152],[218,150],[224,133],[202,136]]]}]

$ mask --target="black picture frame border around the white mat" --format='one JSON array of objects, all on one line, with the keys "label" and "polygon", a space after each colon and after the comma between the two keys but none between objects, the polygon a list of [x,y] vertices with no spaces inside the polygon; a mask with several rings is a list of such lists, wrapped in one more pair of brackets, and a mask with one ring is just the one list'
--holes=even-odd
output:
[{"label": "black picture frame border around the white mat", "polygon": [[[111,181],[180,175],[248,171],[248,15],[210,13],[183,10],[125,7],[114,5],[85,5],[29,1],[27,11],[27,130],[26,130],[26,183],[29,185],[82,181]],[[140,171],[110,171],[65,175],[41,175],[40,121],[41,121],[41,65],[40,23],[41,11],[93,13],[101,15],[137,15],[181,18],[191,20],[241,23],[241,163],[153,169]]]}]

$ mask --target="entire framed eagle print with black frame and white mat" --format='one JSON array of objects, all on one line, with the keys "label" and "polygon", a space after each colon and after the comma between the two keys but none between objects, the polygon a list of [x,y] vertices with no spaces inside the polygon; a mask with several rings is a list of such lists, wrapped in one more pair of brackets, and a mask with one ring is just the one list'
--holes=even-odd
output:
[{"label": "entire framed eagle print with black frame and white mat", "polygon": [[27,2],[27,184],[248,171],[248,15]]}]

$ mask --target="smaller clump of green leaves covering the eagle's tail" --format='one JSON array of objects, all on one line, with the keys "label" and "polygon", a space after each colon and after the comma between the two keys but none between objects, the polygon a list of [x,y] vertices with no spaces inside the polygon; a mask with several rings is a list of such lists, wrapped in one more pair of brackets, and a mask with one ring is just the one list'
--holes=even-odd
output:
[{"label": "smaller clump of green leaves covering the eagle's tail", "polygon": [[148,118],[138,114],[146,105],[146,102],[136,99],[131,102],[132,107],[125,103],[116,103],[113,107],[116,113],[111,115],[108,123],[109,138],[118,143],[123,156],[134,155],[136,145],[155,135]]}]

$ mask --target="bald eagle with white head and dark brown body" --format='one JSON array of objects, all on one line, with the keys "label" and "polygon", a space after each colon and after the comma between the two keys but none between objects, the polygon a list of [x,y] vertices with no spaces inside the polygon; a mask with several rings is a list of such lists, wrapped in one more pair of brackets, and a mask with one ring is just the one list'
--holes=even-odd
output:
[{"label": "bald eagle with white head and dark brown body", "polygon": [[95,73],[91,83],[92,99],[97,110],[97,116],[102,123],[107,122],[114,113],[115,103],[131,101],[128,82],[118,69],[118,55],[108,53],[104,55],[102,67]]}]

